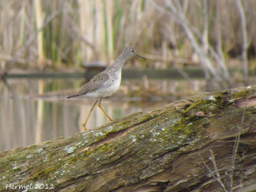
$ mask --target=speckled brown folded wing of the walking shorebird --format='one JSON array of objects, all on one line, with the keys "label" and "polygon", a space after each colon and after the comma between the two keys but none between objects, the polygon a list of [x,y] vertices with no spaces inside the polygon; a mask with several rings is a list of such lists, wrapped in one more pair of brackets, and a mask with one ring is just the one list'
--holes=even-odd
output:
[{"label": "speckled brown folded wing of the walking shorebird", "polygon": [[108,81],[109,76],[106,73],[99,73],[94,76],[88,83],[83,85],[83,88],[77,92],[75,95],[71,95],[71,97],[77,97],[79,95],[84,95],[86,93],[94,92],[95,90],[99,89],[106,81]]}]

